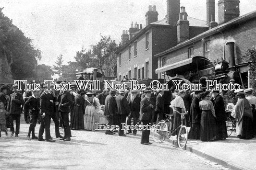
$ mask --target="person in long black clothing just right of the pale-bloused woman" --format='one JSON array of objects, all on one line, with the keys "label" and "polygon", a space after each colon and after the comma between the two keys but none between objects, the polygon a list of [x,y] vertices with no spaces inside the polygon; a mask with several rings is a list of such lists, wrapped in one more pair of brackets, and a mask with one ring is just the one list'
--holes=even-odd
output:
[{"label": "person in long black clothing just right of the pale-bloused woman", "polygon": [[219,139],[225,140],[228,137],[227,126],[226,126],[226,110],[224,105],[223,97],[219,95],[219,91],[212,91],[213,97],[210,101],[213,102],[214,110],[216,114],[216,123],[218,126]]}]

